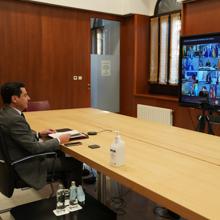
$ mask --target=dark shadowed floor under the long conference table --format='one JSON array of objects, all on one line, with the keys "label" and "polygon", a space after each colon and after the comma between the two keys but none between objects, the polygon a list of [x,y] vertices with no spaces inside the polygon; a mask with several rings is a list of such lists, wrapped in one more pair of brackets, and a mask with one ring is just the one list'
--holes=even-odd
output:
[{"label": "dark shadowed floor under the long conference table", "polygon": [[[115,181],[111,181],[111,187],[108,186],[109,184],[107,184],[106,205],[117,213],[117,220],[168,220],[168,218],[154,214],[154,209],[158,205],[151,200]],[[86,185],[85,189],[89,194],[96,197],[95,185]],[[174,220],[174,218],[170,219]],[[185,219],[179,218],[179,220]]]}]

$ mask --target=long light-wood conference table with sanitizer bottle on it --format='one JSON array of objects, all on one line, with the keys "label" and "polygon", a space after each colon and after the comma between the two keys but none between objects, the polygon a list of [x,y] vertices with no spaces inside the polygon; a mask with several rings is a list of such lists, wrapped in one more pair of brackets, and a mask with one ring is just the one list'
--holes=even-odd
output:
[{"label": "long light-wood conference table with sanitizer bottle on it", "polygon": [[[186,219],[220,219],[220,138],[93,108],[26,112],[32,129],[98,131],[61,149]],[[112,167],[110,145],[120,131],[126,162]],[[88,145],[101,147],[90,149]]]}]

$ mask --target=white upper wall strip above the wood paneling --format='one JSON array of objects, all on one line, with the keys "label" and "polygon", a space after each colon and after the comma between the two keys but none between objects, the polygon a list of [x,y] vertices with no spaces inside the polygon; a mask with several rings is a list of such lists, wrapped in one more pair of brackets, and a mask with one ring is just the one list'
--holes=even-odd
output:
[{"label": "white upper wall strip above the wood paneling", "polygon": [[156,0],[29,0],[118,15],[153,15]]}]

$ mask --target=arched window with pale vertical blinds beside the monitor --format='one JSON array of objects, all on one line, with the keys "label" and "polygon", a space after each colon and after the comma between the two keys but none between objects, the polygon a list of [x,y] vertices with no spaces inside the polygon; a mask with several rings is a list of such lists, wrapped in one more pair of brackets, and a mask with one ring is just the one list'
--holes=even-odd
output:
[{"label": "arched window with pale vertical blinds beside the monitor", "polygon": [[[150,21],[150,77],[152,87],[178,85],[181,4],[176,0],[157,2]],[[178,11],[177,11],[178,10]]]}]

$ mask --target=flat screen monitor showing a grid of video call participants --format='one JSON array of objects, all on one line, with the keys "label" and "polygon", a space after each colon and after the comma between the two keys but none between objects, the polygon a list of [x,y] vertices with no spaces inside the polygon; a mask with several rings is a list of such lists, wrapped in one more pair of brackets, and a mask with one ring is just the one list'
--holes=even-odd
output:
[{"label": "flat screen monitor showing a grid of video call participants", "polygon": [[184,36],[180,40],[182,105],[220,108],[220,33]]}]

